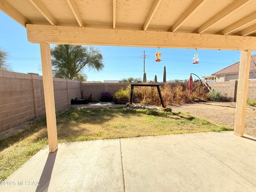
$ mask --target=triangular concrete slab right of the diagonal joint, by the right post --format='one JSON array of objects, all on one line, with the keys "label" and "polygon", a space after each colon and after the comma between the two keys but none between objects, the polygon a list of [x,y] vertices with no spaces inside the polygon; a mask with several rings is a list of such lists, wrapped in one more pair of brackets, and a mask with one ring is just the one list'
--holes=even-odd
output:
[{"label": "triangular concrete slab right of the diagonal joint, by the right post", "polygon": [[215,138],[215,134],[212,132],[185,134],[185,137],[255,184],[255,138],[249,135],[243,138],[230,137],[229,132],[222,132],[221,137]]}]

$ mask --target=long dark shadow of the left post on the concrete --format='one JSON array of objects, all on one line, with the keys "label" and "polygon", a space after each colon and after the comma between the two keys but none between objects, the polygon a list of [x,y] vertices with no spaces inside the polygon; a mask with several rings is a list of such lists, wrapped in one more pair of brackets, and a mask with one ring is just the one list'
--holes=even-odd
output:
[{"label": "long dark shadow of the left post on the concrete", "polygon": [[53,153],[49,153],[46,163],[44,165],[42,175],[39,179],[39,183],[36,188],[36,192],[48,191],[49,183],[50,183],[50,180],[52,177],[52,170],[53,170],[54,162],[55,162],[55,159],[57,156],[57,151],[58,151],[58,149]]}]

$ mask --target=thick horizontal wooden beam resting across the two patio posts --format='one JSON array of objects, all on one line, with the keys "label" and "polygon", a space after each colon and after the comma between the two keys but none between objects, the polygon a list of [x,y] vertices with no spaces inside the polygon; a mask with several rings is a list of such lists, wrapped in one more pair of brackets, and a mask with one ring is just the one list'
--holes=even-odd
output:
[{"label": "thick horizontal wooden beam resting across the two patio posts", "polygon": [[52,44],[172,47],[188,49],[255,50],[256,37],[26,25],[28,41]]}]

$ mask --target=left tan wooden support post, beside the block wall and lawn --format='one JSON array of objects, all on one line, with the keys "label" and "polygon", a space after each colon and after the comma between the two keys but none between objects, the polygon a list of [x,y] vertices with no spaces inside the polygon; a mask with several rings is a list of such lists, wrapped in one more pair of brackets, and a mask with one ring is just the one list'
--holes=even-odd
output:
[{"label": "left tan wooden support post, beside the block wall and lawn", "polygon": [[50,44],[40,43],[41,60],[43,69],[44,101],[47,122],[47,134],[50,152],[58,148],[55,102],[53,91],[52,62]]}]

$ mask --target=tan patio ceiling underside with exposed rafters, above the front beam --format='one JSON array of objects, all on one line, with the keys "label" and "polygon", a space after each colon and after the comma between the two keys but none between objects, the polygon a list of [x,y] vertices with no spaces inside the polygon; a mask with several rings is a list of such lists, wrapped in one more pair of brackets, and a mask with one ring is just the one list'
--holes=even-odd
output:
[{"label": "tan patio ceiling underside with exposed rafters, above the front beam", "polygon": [[255,36],[252,0],[4,0],[26,24]]}]

